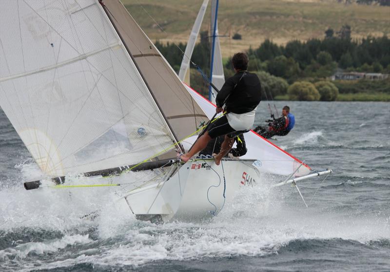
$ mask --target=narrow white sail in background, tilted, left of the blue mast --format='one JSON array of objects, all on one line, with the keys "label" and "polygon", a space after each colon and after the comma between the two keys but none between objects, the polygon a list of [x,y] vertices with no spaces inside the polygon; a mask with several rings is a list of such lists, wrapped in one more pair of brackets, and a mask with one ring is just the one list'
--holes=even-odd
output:
[{"label": "narrow white sail in background, tilted, left of the blue mast", "polygon": [[181,81],[185,82],[187,85],[190,85],[190,59],[192,53],[194,52],[195,42],[199,35],[200,26],[202,24],[204,14],[206,13],[207,4],[209,0],[203,0],[203,3],[199,9],[198,15],[196,16],[194,26],[191,30],[191,35],[188,38],[186,50],[184,52],[183,60],[181,61],[179,78]]}]

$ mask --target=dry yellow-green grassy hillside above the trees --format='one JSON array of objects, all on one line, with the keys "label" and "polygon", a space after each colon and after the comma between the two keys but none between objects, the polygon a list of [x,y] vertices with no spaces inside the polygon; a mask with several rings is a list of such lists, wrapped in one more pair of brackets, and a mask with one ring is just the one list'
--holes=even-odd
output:
[{"label": "dry yellow-green grassy hillside above the trees", "polygon": [[[202,0],[121,0],[145,33],[162,42],[187,42]],[[145,12],[145,10],[147,13]],[[149,17],[160,24],[162,32]],[[336,0],[220,0],[219,35],[242,35],[242,40],[221,37],[224,57],[266,38],[278,44],[292,39],[323,38],[328,27],[335,32],[351,26],[352,38],[390,34],[390,7],[343,4]],[[202,30],[210,28],[210,3]]]}]

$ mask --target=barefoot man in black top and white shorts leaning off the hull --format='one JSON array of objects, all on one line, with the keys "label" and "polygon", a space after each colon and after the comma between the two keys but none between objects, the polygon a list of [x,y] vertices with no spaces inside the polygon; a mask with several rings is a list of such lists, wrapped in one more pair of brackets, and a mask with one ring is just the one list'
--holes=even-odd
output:
[{"label": "barefoot man in black top and white shorts leaning off the hull", "polygon": [[[211,139],[225,135],[220,152],[214,156],[215,164],[219,165],[221,159],[231,150],[234,136],[252,128],[256,107],[261,100],[261,86],[257,75],[246,71],[248,61],[245,53],[234,54],[232,63],[236,73],[226,80],[215,98],[216,112],[224,111],[225,114],[197,139],[187,154],[179,156],[183,162],[188,162],[192,156],[204,149]],[[222,109],[224,103],[226,106]]]}]

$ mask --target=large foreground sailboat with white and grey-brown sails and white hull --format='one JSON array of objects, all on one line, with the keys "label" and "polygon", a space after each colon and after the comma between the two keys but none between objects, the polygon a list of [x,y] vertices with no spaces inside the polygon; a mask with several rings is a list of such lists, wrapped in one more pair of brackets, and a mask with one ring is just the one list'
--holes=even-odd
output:
[{"label": "large foreground sailboat with white and grey-brown sails and white hull", "polygon": [[[0,107],[45,175],[26,189],[117,186],[138,219],[208,218],[240,186],[261,183],[259,165],[272,167],[256,158],[173,159],[209,113],[118,0],[0,7]],[[286,184],[310,172],[287,164]],[[126,187],[129,171],[150,179]],[[83,184],[69,180],[75,173]],[[109,184],[93,184],[107,176]]]}]

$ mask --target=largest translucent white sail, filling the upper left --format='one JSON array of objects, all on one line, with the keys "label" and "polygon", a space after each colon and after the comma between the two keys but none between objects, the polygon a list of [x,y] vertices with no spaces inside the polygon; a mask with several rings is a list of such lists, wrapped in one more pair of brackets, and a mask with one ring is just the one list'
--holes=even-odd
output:
[{"label": "largest translucent white sail, filling the upper left", "polygon": [[97,0],[0,13],[0,107],[43,172],[138,163],[175,141]]}]

